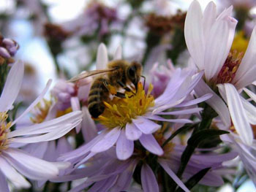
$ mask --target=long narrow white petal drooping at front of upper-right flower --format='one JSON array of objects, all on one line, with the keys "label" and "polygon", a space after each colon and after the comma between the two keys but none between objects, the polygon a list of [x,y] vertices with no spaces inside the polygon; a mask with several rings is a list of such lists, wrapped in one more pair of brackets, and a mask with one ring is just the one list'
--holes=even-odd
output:
[{"label": "long narrow white petal drooping at front of upper-right flower", "polygon": [[236,131],[244,143],[252,145],[252,128],[249,124],[248,118],[246,117],[240,96],[236,91],[236,88],[230,83],[225,83],[225,91],[227,95],[227,106],[230,110],[230,116]]}]

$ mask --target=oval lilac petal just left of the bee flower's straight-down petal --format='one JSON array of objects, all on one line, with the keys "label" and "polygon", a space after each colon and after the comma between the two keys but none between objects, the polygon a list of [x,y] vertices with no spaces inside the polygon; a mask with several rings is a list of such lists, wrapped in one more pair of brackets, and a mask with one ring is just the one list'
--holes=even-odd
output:
[{"label": "oval lilac petal just left of the bee flower's straight-down petal", "polygon": [[119,135],[121,133],[121,128],[113,128],[105,137],[102,138],[94,147],[91,148],[92,153],[100,153],[105,150],[108,150],[110,147],[115,145]]}]

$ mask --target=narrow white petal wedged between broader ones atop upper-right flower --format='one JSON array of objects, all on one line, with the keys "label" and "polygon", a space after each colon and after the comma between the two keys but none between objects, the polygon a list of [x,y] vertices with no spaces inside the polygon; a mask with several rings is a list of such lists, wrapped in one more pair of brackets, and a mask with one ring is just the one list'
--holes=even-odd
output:
[{"label": "narrow white petal wedged between broader ones atop upper-right flower", "polygon": [[205,42],[208,40],[211,27],[213,26],[217,16],[216,4],[213,1],[208,3],[205,11],[203,12],[203,34]]}]

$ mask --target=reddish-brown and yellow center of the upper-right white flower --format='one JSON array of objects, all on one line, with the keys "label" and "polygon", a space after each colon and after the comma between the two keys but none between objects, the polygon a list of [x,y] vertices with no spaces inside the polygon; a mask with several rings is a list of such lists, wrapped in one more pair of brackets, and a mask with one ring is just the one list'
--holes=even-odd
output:
[{"label": "reddish-brown and yellow center of the upper-right white flower", "polygon": [[223,64],[222,69],[218,74],[217,84],[231,82],[233,80],[236,76],[237,69],[241,64],[242,57],[243,53],[237,53],[236,51],[229,53],[225,64]]}]

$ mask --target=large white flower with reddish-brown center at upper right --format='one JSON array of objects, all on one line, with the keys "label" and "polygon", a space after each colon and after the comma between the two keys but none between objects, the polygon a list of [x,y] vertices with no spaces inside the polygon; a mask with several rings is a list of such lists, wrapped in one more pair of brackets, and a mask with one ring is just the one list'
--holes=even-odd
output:
[{"label": "large white flower with reddish-brown center at upper right", "polygon": [[[206,101],[219,114],[225,126],[230,127],[230,117],[242,142],[252,144],[252,128],[255,124],[255,107],[239,95],[239,90],[256,80],[256,28],[243,53],[230,53],[237,20],[231,17],[232,7],[217,16],[216,6],[209,3],[202,13],[200,4],[193,1],[187,12],[185,39],[192,61],[204,70],[205,82],[195,88],[198,96],[212,93]],[[196,26],[196,27],[195,27]],[[217,92],[217,93],[214,93]],[[217,95],[227,102],[228,109]]]}]

